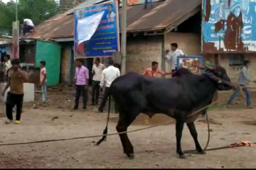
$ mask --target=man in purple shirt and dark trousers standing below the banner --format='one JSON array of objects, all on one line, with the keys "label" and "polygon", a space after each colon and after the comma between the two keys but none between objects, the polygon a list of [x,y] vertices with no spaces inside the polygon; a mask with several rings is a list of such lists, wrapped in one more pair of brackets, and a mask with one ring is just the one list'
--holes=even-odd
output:
[{"label": "man in purple shirt and dark trousers standing below the banner", "polygon": [[75,107],[74,110],[78,109],[79,98],[82,94],[84,107],[86,109],[87,106],[87,90],[88,90],[88,82],[89,82],[89,70],[84,67],[82,59],[75,60]]}]

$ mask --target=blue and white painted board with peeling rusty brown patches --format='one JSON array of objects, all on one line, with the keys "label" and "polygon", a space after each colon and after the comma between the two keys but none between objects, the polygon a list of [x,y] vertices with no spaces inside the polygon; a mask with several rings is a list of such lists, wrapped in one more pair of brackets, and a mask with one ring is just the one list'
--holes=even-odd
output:
[{"label": "blue and white painted board with peeling rusty brown patches", "polygon": [[203,0],[204,53],[256,51],[256,0]]}]

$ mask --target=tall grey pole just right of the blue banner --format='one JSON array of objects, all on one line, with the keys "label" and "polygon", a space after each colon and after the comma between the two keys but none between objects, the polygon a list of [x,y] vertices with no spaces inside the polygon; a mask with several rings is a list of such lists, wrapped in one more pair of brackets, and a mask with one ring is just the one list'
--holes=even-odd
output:
[{"label": "tall grey pole just right of the blue banner", "polygon": [[123,0],[122,4],[122,26],[121,26],[121,75],[125,74],[126,71],[126,27],[127,27],[127,0]]}]

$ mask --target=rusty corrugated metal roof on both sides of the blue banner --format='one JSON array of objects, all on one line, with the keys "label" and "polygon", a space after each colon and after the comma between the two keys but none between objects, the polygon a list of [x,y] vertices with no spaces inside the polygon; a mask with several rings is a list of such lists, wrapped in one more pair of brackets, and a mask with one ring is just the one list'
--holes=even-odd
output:
[{"label": "rusty corrugated metal roof on both sides of the blue banner", "polygon": [[[127,31],[165,29],[199,6],[201,1],[165,0],[154,3],[153,9],[143,9],[143,4],[130,6],[127,9]],[[32,35],[27,35],[25,38],[66,38],[73,35],[73,15],[59,15],[36,26],[36,32]]]}]

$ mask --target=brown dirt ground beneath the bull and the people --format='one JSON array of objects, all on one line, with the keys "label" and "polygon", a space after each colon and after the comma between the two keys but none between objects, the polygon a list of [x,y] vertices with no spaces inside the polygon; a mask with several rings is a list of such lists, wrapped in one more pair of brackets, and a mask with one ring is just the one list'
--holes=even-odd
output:
[{"label": "brown dirt ground beneath the bull and the people", "polygon": [[[72,111],[73,96],[69,92],[52,90],[47,105],[39,102],[26,103],[20,125],[5,125],[4,106],[0,106],[0,144],[41,141],[100,135],[105,128],[106,113],[95,113],[90,106],[87,111]],[[256,142],[256,108],[247,109],[240,97],[232,108],[224,108],[229,93],[223,93],[220,103],[211,108],[211,141],[209,148],[221,147],[236,141]],[[256,106],[256,93],[252,93]],[[51,120],[55,117],[56,119]],[[157,115],[146,123],[144,115],[130,126],[129,130],[163,123],[169,117]],[[117,114],[111,114],[109,132],[116,132]],[[205,147],[207,125],[196,122],[199,141]],[[206,155],[187,154],[181,160],[175,154],[175,125],[159,126],[128,134],[133,143],[136,158],[130,160],[123,155],[118,136],[109,136],[101,146],[94,146],[99,138],[74,141],[59,141],[0,147],[0,168],[255,168],[255,147],[239,147],[209,151]],[[194,149],[193,139],[184,128],[182,147]]]}]

